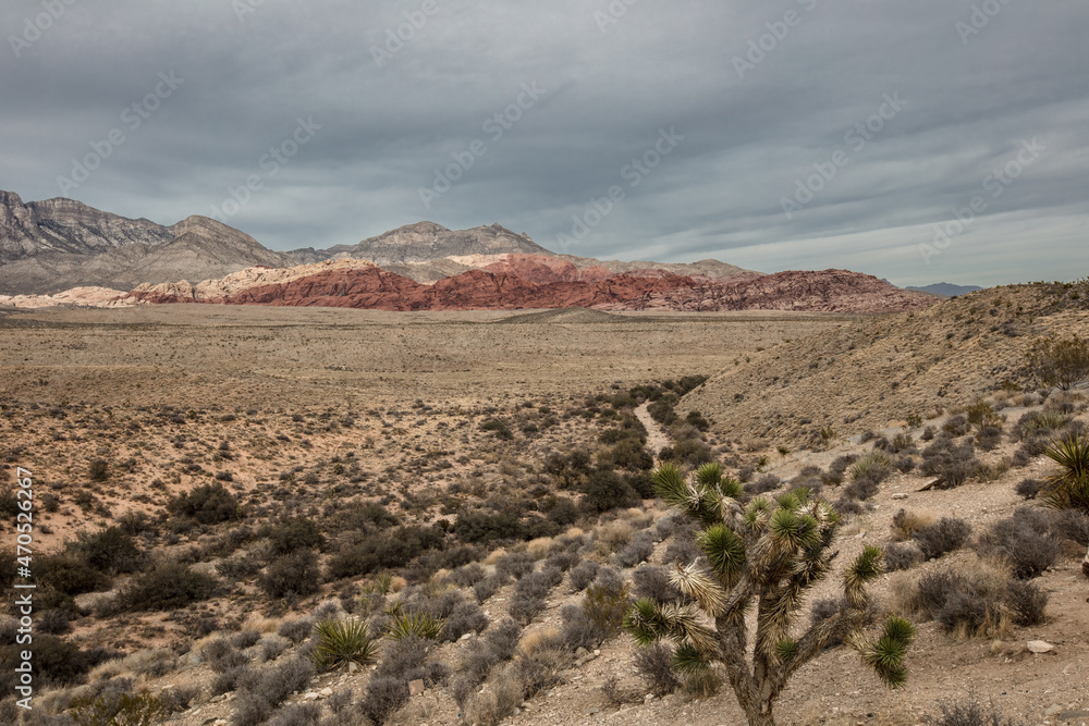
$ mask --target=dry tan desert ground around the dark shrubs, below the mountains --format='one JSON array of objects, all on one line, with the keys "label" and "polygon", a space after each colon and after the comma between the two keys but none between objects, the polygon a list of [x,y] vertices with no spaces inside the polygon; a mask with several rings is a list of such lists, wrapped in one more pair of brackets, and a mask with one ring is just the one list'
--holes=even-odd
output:
[{"label": "dry tan desert ground around the dark shrubs, below the mountains", "polygon": [[[984,291],[978,295],[1002,294]],[[1030,297],[1028,293],[1025,296]],[[1020,324],[1004,300],[968,299],[943,305],[978,305],[983,311],[1001,309],[1002,316],[1010,308],[1010,324]],[[1018,450],[1015,423],[1044,405],[1062,406],[1064,420],[1085,420],[1082,394],[1054,393],[1051,404],[1045,404],[1031,389],[1013,383],[1000,387],[1001,378],[1007,372],[1013,376],[1011,369],[986,390],[960,391],[963,399],[945,397],[944,390],[934,393],[927,389],[923,395],[921,389],[913,389],[914,383],[907,380],[910,376],[905,376],[903,387],[858,391],[854,401],[841,402],[827,395],[820,398],[821,392],[813,389],[823,385],[819,376],[790,373],[792,366],[816,371],[828,364],[831,356],[817,349],[821,345],[839,341],[835,344],[843,346],[841,357],[846,360],[847,349],[870,350],[877,348],[866,345],[882,345],[882,327],[909,328],[918,320],[916,316],[928,315],[938,325],[945,313],[697,316],[584,309],[392,313],[210,305],[0,312],[4,475],[11,485],[14,468],[26,467],[34,471],[39,491],[48,492],[50,506],[38,520],[38,546],[56,553],[79,530],[119,522],[127,527],[140,518],[133,513],[143,513],[147,521],[132,525],[132,530],[137,532],[135,540],[146,556],[176,558],[219,579],[213,596],[197,605],[160,612],[136,608],[119,614],[102,606],[137,577],[123,570],[105,594],[75,595],[69,629],[60,630],[64,638],[82,648],[106,648],[126,657],[97,665],[89,685],[77,686],[75,691],[54,691],[41,702],[41,717],[46,717],[45,711],[61,711],[73,694],[98,692],[94,690],[96,682],[124,676],[152,693],[185,692],[187,698],[176,705],[169,723],[243,723],[237,716],[243,697],[234,689],[216,687],[221,674],[209,667],[209,643],[256,631],[259,636],[255,640],[238,647],[247,655],[243,667],[273,668],[293,654],[306,652],[305,636],[302,644],[284,637],[286,625],[306,620],[319,607],[325,615],[353,613],[360,593],[364,601],[374,596],[368,588],[375,581],[372,575],[326,578],[318,589],[301,598],[294,593],[269,598],[261,589],[260,565],[242,575],[233,570],[227,575],[223,566],[228,561],[237,564],[268,554],[261,550],[267,544],[261,544],[255,530],[264,531],[261,527],[273,526],[285,516],[311,519],[328,539],[319,555],[322,566],[328,566],[339,550],[356,544],[340,518],[345,512],[375,503],[387,507],[402,524],[441,525],[449,532],[461,531],[454,527],[455,518],[462,507],[470,505],[500,507],[498,502],[506,499],[528,503],[530,508],[539,506],[541,513],[551,512],[558,492],[552,491],[554,472],[549,457],[578,447],[592,450],[597,442],[609,441],[608,431],[615,424],[633,416],[648,424],[651,443],[663,441],[670,431],[659,430],[646,415],[646,405],[634,406],[633,413],[627,392],[684,377],[711,377],[708,386],[724,382],[713,392],[699,387],[683,401],[727,402],[714,411],[703,411],[711,419],[707,431],[695,434],[693,429],[689,434],[698,435],[729,471],[747,468],[750,477],[756,468],[761,481],[770,477],[784,488],[811,477],[811,467],[831,469],[837,458],[870,452],[872,436],[906,434],[908,443],[922,448],[921,426],[940,428],[977,396],[986,395],[995,415],[1004,420],[1006,438],[979,453],[984,473],[956,489],[920,492],[932,477],[923,476],[914,463],[894,471],[846,519],[837,547],[841,559],[847,561],[864,544],[885,545],[892,541],[893,517],[902,508],[928,521],[956,516],[982,532],[1026,505],[1015,492],[1018,481],[1043,478],[1053,468],[1042,456],[1011,468],[1008,462]],[[987,313],[980,315],[986,322]],[[1059,310],[1048,324],[1053,323],[1056,330],[1077,328],[1084,316]],[[1029,324],[1039,325],[1042,320],[1043,316]],[[967,323],[958,324],[970,323],[969,316]],[[1008,333],[1003,336],[995,330],[980,330],[976,336],[983,341],[979,344],[984,350],[992,352],[993,360],[988,362],[998,366],[1013,355],[1006,354],[1007,347],[1014,352],[1010,346],[1023,346],[1027,339]],[[991,334],[996,337],[988,337]],[[849,343],[848,348],[843,341],[849,340],[862,347]],[[896,353],[902,347],[897,346]],[[882,349],[882,356],[884,353]],[[812,356],[811,366],[806,355]],[[761,431],[739,431],[747,419],[723,424],[727,418],[723,406],[733,402],[738,407],[756,405],[752,391],[735,391],[729,385],[744,385],[745,380],[771,372],[790,382],[790,386],[785,382],[776,385],[781,398],[769,399],[771,404],[786,396],[806,399],[812,406],[813,399],[820,398],[829,421],[824,445],[812,445],[806,429],[808,418],[806,426],[792,428],[754,408],[747,415],[769,420]],[[738,382],[732,383],[731,376]],[[857,381],[856,387],[872,383],[866,377],[852,379],[851,369],[845,376],[847,387],[852,380]],[[776,376],[774,380],[780,379]],[[941,386],[931,387],[937,391]],[[872,401],[861,397],[870,393]],[[865,411],[856,410],[861,405],[858,401],[867,406]],[[895,408],[893,403],[901,401],[910,402],[904,405],[913,408]],[[939,405],[941,402],[944,405]],[[685,413],[685,406],[678,405],[677,410]],[[908,424],[905,419],[909,415],[918,416],[921,426]],[[862,424],[873,433],[858,435]],[[817,426],[823,422],[817,421]],[[910,454],[908,450],[905,455]],[[97,473],[95,462],[103,463]],[[808,475],[806,467],[810,467]],[[194,488],[216,482],[225,482],[237,497],[240,517],[245,509],[245,521],[241,526],[238,521],[179,524],[171,503]],[[829,491],[832,487],[825,490],[831,496]],[[582,545],[580,559],[594,559],[602,567],[619,566],[623,576],[631,577],[640,562],[648,564],[645,566],[672,562],[672,552],[668,555],[666,550],[676,537],[671,539],[669,521],[665,506],[647,499],[605,512],[600,520],[584,517],[577,529],[567,529],[562,536],[504,541],[498,550],[478,541],[474,552],[482,571],[491,575],[497,563],[502,569],[503,557],[510,558],[511,553],[558,556],[563,546],[577,550]],[[564,524],[561,529],[567,527]],[[236,534],[240,529],[246,534]],[[13,538],[10,525],[4,525],[0,537]],[[632,567],[617,564],[620,553],[640,537],[650,547],[647,556]],[[458,547],[468,549],[464,542]],[[921,724],[926,715],[937,713],[940,700],[968,692],[984,703],[993,701],[1006,716],[1024,718],[1024,723],[1089,723],[1089,580],[1080,575],[1084,552],[1084,543],[1065,541],[1054,563],[1033,580],[1049,598],[1048,617],[1042,623],[1028,627],[1005,624],[983,637],[957,638],[943,632],[934,622],[920,618],[918,640],[908,655],[908,685],[895,691],[882,688],[853,650],[843,645],[830,649],[792,680],[776,707],[780,723]],[[879,607],[893,608],[907,578],[917,571],[971,566],[975,557],[971,549],[965,547],[910,571],[883,576],[873,588]],[[465,564],[468,561],[409,567],[404,573],[409,583],[404,592],[424,598],[420,593],[426,589],[427,596],[438,598],[436,593],[456,590],[453,580],[443,578],[473,567]],[[478,593],[477,598],[487,617],[478,630],[485,636],[517,599],[518,583],[495,581],[493,593],[484,599]],[[830,576],[816,595],[834,594],[836,581],[836,576]],[[472,600],[473,588],[467,592]],[[392,603],[399,595],[384,596]],[[562,630],[561,612],[565,605],[579,604],[582,598],[567,580],[553,587],[542,610],[527,618],[522,647],[529,652],[534,637],[547,638]],[[808,607],[802,620],[808,619],[807,613]],[[449,664],[453,675],[435,685],[428,681],[421,693],[414,691],[389,723],[472,723],[450,686],[462,663],[462,649],[477,642],[468,631],[465,637],[469,640],[457,638],[435,645],[428,657]],[[1029,652],[1029,641],[1045,641],[1051,650]],[[683,690],[648,696],[650,689],[635,670],[635,651],[628,636],[610,635],[599,648],[580,651],[577,660],[564,663],[555,682],[524,701],[517,699],[517,707],[495,722],[744,723],[729,685],[710,697]],[[610,682],[611,676],[617,680]],[[282,723],[310,723],[305,721],[304,706],[311,709],[307,713],[315,718],[320,715],[328,723],[367,723],[343,715],[354,706],[341,711],[332,704],[347,699],[341,693],[348,689],[351,703],[358,702],[369,677],[366,668],[315,675],[287,697],[287,705],[281,709],[289,713],[284,709],[294,709],[297,703],[299,711],[291,713],[303,721]],[[494,670],[491,677],[495,677]],[[604,686],[611,688],[602,690]],[[98,688],[100,691],[102,686]],[[488,680],[477,690],[484,694],[492,688],[497,686]],[[475,718],[485,723],[480,715],[485,712],[477,709]]]}]

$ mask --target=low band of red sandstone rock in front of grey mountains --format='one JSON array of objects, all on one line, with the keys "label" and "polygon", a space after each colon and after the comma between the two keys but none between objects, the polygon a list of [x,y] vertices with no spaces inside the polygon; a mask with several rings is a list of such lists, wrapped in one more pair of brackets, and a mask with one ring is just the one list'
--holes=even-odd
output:
[{"label": "low band of red sandstone rock in front of grey mountains", "polygon": [[[377,267],[328,267],[282,282],[218,296],[145,288],[134,302],[346,307],[372,310],[512,310],[586,307],[601,310],[808,310],[891,312],[921,309],[937,298],[892,287],[846,270],[780,272],[736,280],[687,278],[660,270],[595,279],[560,260],[536,256],[470,270],[431,285]],[[585,278],[589,276],[587,280]],[[181,293],[181,294],[179,294]]]}]

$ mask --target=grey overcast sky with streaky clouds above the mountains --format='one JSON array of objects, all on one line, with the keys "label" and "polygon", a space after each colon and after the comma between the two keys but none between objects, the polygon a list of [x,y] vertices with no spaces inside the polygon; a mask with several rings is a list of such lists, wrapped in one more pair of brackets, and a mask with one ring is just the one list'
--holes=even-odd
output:
[{"label": "grey overcast sky with streaky clouds above the mountains", "polygon": [[1085,0],[4,0],[0,29],[24,200],[216,210],[273,249],[430,220],[901,285],[1089,273]]}]

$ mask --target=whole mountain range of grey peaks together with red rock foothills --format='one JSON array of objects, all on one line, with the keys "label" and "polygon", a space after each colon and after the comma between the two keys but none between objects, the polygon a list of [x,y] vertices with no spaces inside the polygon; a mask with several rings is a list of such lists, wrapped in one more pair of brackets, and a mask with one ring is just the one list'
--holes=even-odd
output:
[{"label": "whole mountain range of grey peaks together with red rock foothills", "polygon": [[272,251],[204,217],[164,226],[0,192],[0,304],[322,305],[384,310],[920,309],[932,295],[846,270],[764,275],[718,260],[558,255],[500,224],[418,222],[328,249]]}]

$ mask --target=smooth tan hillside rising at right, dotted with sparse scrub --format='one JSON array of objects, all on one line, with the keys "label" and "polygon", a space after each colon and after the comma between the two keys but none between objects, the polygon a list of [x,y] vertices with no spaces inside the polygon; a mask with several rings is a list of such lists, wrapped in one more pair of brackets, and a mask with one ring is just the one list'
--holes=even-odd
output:
[{"label": "smooth tan hillside rising at right, dotted with sparse scrub", "polygon": [[929,309],[845,323],[739,358],[681,403],[727,436],[811,444],[964,404],[1003,381],[1031,386],[1025,350],[1089,330],[1089,285],[994,287]]}]

